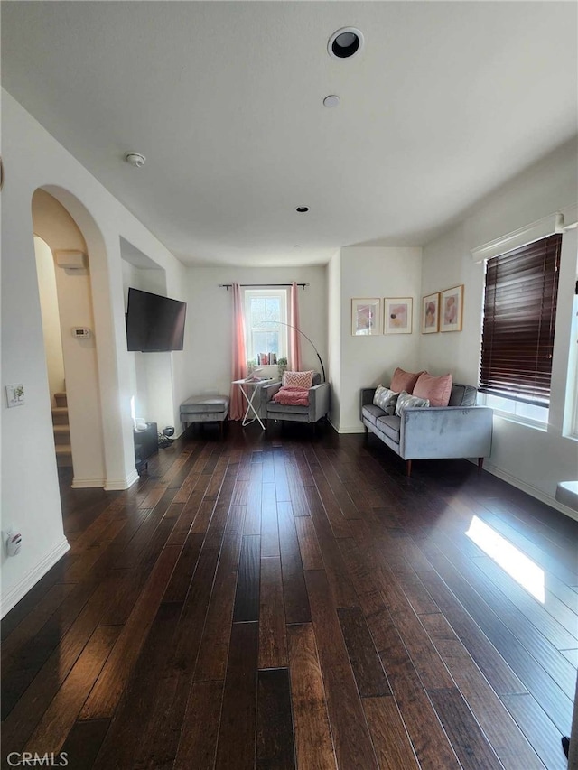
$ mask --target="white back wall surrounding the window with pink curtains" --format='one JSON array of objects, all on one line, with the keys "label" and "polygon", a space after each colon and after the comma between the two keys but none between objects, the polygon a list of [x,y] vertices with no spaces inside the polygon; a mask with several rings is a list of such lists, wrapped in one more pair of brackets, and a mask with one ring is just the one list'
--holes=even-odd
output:
[{"label": "white back wall surrounding the window with pink curtains", "polygon": [[[228,394],[231,383],[231,292],[219,283],[309,283],[299,290],[303,332],[318,348],[327,369],[327,277],[320,267],[192,267],[187,277],[185,371],[188,393]],[[302,339],[303,366],[319,371],[319,360]],[[172,354],[176,355],[176,354]]]}]

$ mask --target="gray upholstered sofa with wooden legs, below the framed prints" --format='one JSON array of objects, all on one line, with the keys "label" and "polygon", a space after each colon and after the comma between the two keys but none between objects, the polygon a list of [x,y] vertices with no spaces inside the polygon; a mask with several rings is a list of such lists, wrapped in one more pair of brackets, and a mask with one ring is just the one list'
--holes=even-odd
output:
[{"label": "gray upholstered sofa with wooden legs, below the framed prints", "polygon": [[448,406],[413,407],[401,417],[374,405],[375,391],[361,391],[361,422],[406,460],[408,476],[413,459],[478,458],[482,468],[491,452],[492,410],[476,406],[475,387],[454,383]]}]

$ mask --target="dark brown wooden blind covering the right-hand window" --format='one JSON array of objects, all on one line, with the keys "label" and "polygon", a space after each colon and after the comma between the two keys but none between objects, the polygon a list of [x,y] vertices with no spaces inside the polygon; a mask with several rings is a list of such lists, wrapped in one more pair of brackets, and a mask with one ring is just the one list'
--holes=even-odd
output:
[{"label": "dark brown wooden blind covering the right-hand window", "polygon": [[488,260],[481,391],[549,403],[561,245],[549,236]]}]

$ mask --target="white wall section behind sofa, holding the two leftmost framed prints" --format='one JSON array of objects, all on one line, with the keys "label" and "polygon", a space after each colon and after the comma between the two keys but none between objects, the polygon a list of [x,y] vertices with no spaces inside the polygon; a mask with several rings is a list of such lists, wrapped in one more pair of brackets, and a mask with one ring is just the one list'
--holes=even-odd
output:
[{"label": "white wall section behind sofa, holding the two leftmost framed prints", "polygon": [[[415,372],[419,365],[419,294],[422,250],[419,247],[348,246],[340,255],[340,406],[332,420],[341,433],[359,433],[359,392],[387,385],[396,366]],[[351,334],[354,297],[412,297],[412,334]],[[383,316],[383,302],[381,305]],[[383,317],[381,319],[383,324]]]}]

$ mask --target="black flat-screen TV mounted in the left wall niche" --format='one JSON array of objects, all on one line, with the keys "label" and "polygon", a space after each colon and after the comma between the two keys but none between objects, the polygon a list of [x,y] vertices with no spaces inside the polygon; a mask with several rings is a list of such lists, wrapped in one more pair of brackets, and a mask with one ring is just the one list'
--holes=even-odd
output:
[{"label": "black flat-screen TV mounted in the left wall niche", "polygon": [[126,310],[128,349],[143,353],[182,350],[186,311],[186,302],[129,288]]}]

